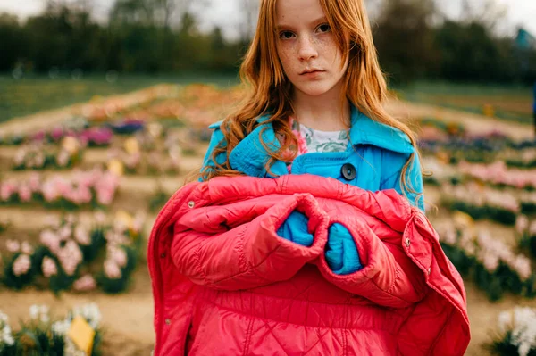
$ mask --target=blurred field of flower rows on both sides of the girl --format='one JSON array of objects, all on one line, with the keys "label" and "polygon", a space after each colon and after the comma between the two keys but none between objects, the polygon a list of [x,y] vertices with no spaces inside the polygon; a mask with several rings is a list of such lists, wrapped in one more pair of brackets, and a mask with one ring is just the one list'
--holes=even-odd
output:
[{"label": "blurred field of flower rows on both sides of the girl", "polygon": [[[0,125],[0,355],[150,353],[147,235],[239,96],[150,87]],[[534,354],[536,142],[409,108],[427,215],[465,279],[467,354]]]}]

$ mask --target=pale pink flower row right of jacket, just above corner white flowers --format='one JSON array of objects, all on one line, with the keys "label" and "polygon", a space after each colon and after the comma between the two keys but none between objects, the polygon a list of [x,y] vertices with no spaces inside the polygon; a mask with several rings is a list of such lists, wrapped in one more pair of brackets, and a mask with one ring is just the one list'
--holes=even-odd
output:
[{"label": "pale pink flower row right of jacket, just above corner white flowers", "polygon": [[464,278],[472,278],[491,301],[498,301],[506,292],[536,296],[536,276],[529,258],[514,253],[485,230],[474,231],[452,221],[437,224],[436,229],[456,269]]}]

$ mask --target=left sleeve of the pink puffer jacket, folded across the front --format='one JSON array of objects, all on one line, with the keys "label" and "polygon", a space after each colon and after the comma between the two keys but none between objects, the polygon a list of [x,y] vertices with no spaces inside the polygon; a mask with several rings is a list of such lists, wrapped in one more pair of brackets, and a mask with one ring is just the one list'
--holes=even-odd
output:
[{"label": "left sleeve of the pink puffer jacket, folded across the front", "polygon": [[[278,236],[292,211],[308,218],[314,235],[310,247]],[[245,212],[246,214],[248,212]],[[239,219],[244,219],[243,215]],[[292,195],[227,231],[208,234],[188,228],[180,219],[174,227],[172,260],[193,283],[224,290],[265,286],[294,276],[317,258],[326,242],[328,217],[312,195]]]}]

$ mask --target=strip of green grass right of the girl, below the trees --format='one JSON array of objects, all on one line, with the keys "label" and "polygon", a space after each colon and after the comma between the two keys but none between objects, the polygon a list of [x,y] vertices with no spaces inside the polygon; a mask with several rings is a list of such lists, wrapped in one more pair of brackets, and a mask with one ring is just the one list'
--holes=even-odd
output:
[{"label": "strip of green grass right of the girl, below the trees", "polygon": [[485,104],[490,104],[499,119],[532,123],[532,87],[423,81],[393,89],[400,94],[401,99],[410,102],[429,103],[479,114],[482,114]]}]

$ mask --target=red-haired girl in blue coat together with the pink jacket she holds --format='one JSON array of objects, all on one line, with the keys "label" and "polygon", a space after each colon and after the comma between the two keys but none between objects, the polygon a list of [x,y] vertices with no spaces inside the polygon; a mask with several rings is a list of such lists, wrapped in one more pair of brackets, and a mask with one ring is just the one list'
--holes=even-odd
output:
[{"label": "red-haired girl in blue coat together with the pink jacket she holds", "polygon": [[463,282],[362,0],[262,0],[241,74],[149,240],[155,354],[464,354]]}]

